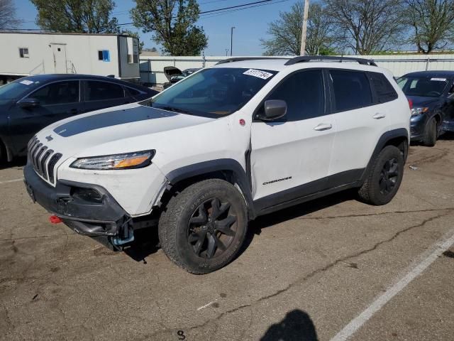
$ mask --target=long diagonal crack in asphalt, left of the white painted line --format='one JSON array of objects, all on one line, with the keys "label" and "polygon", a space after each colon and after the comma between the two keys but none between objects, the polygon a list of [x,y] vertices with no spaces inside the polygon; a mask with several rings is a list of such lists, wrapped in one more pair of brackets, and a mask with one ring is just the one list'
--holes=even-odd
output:
[{"label": "long diagonal crack in asphalt, left of the white painted line", "polygon": [[[427,219],[423,220],[419,224],[411,225],[409,227],[406,227],[405,229],[402,229],[402,230],[396,232],[394,235],[392,235],[392,237],[390,237],[388,239],[384,239],[381,242],[375,243],[372,247],[370,247],[368,249],[364,249],[362,251],[356,252],[355,254],[350,254],[349,256],[345,256],[345,257],[342,257],[340,259],[336,259],[335,261],[331,262],[330,264],[327,264],[326,266],[323,266],[322,268],[316,269],[316,270],[312,271],[311,273],[307,274],[306,276],[303,276],[301,278],[297,278],[296,281],[290,283],[285,288],[282,288],[279,291],[276,291],[275,293],[272,293],[271,295],[263,296],[263,297],[259,298],[258,300],[253,301],[252,303],[245,304],[245,305],[240,305],[240,306],[238,306],[236,308],[233,308],[231,310],[227,310],[227,311],[219,314],[218,316],[216,316],[216,318],[211,318],[209,320],[206,320],[204,323],[201,323],[200,325],[194,325],[194,326],[192,326],[190,328],[183,328],[183,329],[194,330],[194,329],[198,329],[198,328],[204,328],[206,325],[209,325],[209,323],[216,323],[217,320],[220,320],[225,315],[228,315],[228,314],[231,314],[231,313],[235,313],[238,310],[242,310],[244,308],[252,307],[253,305],[256,305],[258,303],[266,301],[266,300],[268,300],[270,298],[279,296],[280,294],[289,291],[291,288],[294,288],[295,286],[301,285],[302,283],[304,283],[305,281],[309,280],[310,278],[316,276],[317,274],[321,274],[321,273],[323,273],[325,271],[328,271],[329,269],[333,268],[334,266],[336,266],[338,264],[343,264],[343,263],[345,263],[345,261],[348,261],[350,259],[355,259],[358,256],[362,256],[364,254],[368,254],[369,252],[375,251],[381,245],[387,244],[389,242],[392,242],[394,239],[399,237],[401,234],[404,234],[405,232],[409,232],[412,229],[416,229],[418,227],[423,227],[424,225],[426,225],[429,222],[432,222],[433,220],[436,220],[436,219],[441,218],[441,217],[445,217],[445,215],[448,215],[448,213],[453,212],[454,208],[447,208],[447,209],[443,209],[443,210],[444,211],[448,211],[448,212],[438,214],[435,217],[427,218]],[[430,212],[430,211],[440,211],[440,210],[428,210],[428,211]],[[389,212],[387,212],[387,213],[389,213]],[[160,334],[165,333],[165,332],[170,332],[172,330],[175,330],[175,328],[167,328],[166,330],[160,330],[158,332],[153,333],[152,335],[149,335],[149,337],[153,337],[155,335],[160,335]],[[145,337],[142,340],[145,341],[145,340],[150,340],[150,339],[148,337]]]}]

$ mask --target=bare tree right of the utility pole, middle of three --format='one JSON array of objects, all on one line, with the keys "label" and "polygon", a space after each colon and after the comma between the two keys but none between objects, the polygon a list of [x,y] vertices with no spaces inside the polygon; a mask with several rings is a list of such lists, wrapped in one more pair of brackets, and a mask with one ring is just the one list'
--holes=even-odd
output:
[{"label": "bare tree right of the utility pole, middle of three", "polygon": [[326,0],[326,5],[338,39],[355,54],[368,55],[399,43],[399,0]]}]

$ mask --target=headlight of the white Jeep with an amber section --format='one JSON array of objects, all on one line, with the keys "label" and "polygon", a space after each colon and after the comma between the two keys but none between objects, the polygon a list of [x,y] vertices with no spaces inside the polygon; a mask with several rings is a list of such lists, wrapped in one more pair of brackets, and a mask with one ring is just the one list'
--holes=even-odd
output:
[{"label": "headlight of the white Jeep with an amber section", "polygon": [[151,163],[155,151],[136,151],[135,153],[94,156],[92,158],[78,158],[70,167],[79,169],[130,169],[142,168]]}]

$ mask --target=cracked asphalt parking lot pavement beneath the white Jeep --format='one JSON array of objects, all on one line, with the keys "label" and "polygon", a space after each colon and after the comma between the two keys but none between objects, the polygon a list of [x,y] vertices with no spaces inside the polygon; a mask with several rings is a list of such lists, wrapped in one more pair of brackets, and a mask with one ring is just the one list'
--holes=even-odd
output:
[{"label": "cracked asphalt parking lot pavement beneath the white Jeep", "polygon": [[0,340],[454,340],[453,151],[452,135],[411,146],[388,205],[348,191],[260,217],[204,276],[154,231],[114,252],[50,224],[16,161],[0,170]]}]

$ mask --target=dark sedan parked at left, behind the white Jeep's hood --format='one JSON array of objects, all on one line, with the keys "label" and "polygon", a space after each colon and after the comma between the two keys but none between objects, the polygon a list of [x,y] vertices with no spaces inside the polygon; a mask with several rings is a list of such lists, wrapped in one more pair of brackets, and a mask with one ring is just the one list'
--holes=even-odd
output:
[{"label": "dark sedan parked at left, behind the white Jeep's hood", "polygon": [[33,135],[55,121],[155,94],[131,82],[92,75],[35,75],[15,80],[0,87],[0,161],[25,156]]}]

